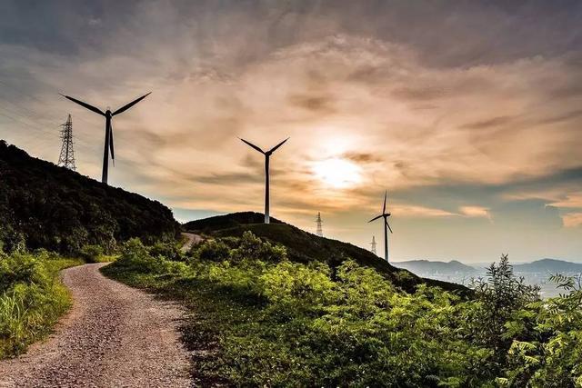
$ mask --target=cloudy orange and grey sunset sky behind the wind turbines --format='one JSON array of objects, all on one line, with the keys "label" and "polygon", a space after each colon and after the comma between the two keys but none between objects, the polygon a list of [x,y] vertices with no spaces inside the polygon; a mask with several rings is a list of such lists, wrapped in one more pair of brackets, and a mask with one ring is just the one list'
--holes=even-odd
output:
[{"label": "cloudy orange and grey sunset sky behind the wind turbines", "polygon": [[[0,138],[188,221],[263,211],[391,260],[582,262],[580,1],[0,2]],[[0,183],[1,184],[1,183]],[[381,245],[378,252],[382,252]]]}]

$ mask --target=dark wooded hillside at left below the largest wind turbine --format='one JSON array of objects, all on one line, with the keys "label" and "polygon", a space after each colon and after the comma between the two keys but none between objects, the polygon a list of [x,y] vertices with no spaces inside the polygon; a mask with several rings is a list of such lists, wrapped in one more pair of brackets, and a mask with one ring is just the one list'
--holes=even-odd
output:
[{"label": "dark wooded hillside at left below the largest wind turbine", "polygon": [[131,237],[173,238],[179,224],[157,201],[102,184],[0,141],[0,244],[73,253]]}]

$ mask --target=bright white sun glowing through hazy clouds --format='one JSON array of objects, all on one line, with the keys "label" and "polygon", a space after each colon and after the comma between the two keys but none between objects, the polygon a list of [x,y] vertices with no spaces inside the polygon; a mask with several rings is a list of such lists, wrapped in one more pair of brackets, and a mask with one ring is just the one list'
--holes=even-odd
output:
[{"label": "bright white sun glowing through hazy clouds", "polygon": [[313,166],[313,172],[322,183],[334,188],[346,188],[362,181],[360,167],[341,158],[316,162]]}]

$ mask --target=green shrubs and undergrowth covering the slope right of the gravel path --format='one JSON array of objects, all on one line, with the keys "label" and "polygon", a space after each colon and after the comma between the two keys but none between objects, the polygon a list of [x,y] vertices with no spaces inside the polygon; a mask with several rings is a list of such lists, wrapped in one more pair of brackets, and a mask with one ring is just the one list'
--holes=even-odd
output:
[{"label": "green shrubs and undergrowth covering the slope right of the gravel path", "polygon": [[471,300],[406,293],[349,259],[292,262],[251,233],[179,261],[132,240],[104,272],[191,308],[200,385],[582,386],[580,279],[556,277],[566,294],[542,301],[507,256]]}]

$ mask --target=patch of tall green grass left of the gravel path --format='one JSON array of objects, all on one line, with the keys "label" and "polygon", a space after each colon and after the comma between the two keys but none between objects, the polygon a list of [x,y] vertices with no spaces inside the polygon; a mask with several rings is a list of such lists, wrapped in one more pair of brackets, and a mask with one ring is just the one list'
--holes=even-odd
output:
[{"label": "patch of tall green grass left of the gravel path", "polygon": [[71,303],[58,272],[78,264],[82,262],[44,250],[0,250],[0,359],[25,352],[30,343],[50,333]]}]

